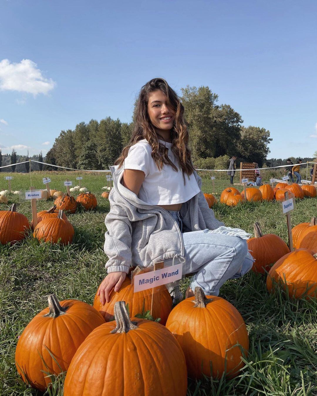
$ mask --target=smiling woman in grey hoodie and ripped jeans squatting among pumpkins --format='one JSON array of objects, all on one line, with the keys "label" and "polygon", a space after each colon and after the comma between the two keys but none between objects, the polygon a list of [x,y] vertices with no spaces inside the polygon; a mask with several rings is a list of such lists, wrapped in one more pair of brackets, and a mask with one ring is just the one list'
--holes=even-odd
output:
[{"label": "smiling woman in grey hoodie and ripped jeans squatting among pumpkins", "polygon": [[109,260],[99,289],[102,304],[113,288],[120,289],[131,265],[186,259],[186,274],[195,273],[186,297],[196,286],[218,295],[226,280],[251,269],[249,234],[223,227],[208,208],[188,148],[184,107],[162,78],[142,87],[131,140],[115,165],[105,220]]}]

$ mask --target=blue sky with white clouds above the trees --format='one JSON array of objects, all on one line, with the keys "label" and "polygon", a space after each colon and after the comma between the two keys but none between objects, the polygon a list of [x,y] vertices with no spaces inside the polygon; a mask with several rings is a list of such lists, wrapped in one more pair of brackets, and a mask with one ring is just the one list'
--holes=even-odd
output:
[{"label": "blue sky with white clouds above the trees", "polygon": [[0,0],[2,152],[46,153],[91,118],[129,122],[162,76],[178,93],[208,85],[245,126],[269,129],[269,158],[312,156],[316,17],[305,0]]}]

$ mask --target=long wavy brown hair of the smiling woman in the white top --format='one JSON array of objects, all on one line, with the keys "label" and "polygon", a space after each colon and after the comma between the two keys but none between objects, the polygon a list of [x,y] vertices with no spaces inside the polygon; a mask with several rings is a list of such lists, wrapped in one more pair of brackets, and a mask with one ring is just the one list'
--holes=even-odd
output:
[{"label": "long wavy brown hair of the smiling woman in the white top", "polygon": [[[158,141],[158,134],[156,133],[148,115],[148,97],[150,93],[157,90],[164,93],[167,97],[167,104],[175,110],[175,121],[171,130],[171,149],[179,159],[183,175],[186,173],[189,176],[193,173],[194,166],[192,164],[190,149],[188,147],[189,136],[184,121],[184,106],[180,103],[177,93],[163,78],[153,78],[141,88],[135,108],[135,126],[131,139],[128,145],[123,148],[120,157],[114,164],[121,167],[128,155],[129,148],[135,145],[138,141],[146,139],[146,141],[148,141],[152,146],[152,158],[159,170],[163,168],[163,164],[171,165],[175,171],[178,170],[167,156],[168,148]],[[164,140],[163,137],[161,137],[161,140]]]}]

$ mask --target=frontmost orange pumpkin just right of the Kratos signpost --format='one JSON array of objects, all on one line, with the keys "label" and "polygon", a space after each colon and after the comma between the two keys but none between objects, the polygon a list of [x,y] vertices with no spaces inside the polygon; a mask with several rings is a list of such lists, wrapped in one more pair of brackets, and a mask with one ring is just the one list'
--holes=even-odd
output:
[{"label": "frontmost orange pumpkin just right of the Kratos signpost", "polygon": [[68,245],[72,242],[75,234],[74,227],[68,220],[63,219],[63,211],[60,210],[57,217],[42,220],[34,228],[33,236],[44,242]]}]

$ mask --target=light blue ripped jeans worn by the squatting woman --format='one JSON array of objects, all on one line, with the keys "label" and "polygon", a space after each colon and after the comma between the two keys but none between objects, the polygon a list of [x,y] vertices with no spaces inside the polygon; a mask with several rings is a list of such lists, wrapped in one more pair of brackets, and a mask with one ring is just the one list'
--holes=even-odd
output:
[{"label": "light blue ripped jeans worn by the squatting woman", "polygon": [[[180,211],[169,211],[183,231]],[[186,274],[193,274],[190,288],[200,286],[206,295],[218,295],[228,279],[240,278],[252,268],[247,242],[237,236],[210,234],[209,230],[182,232]]]}]

